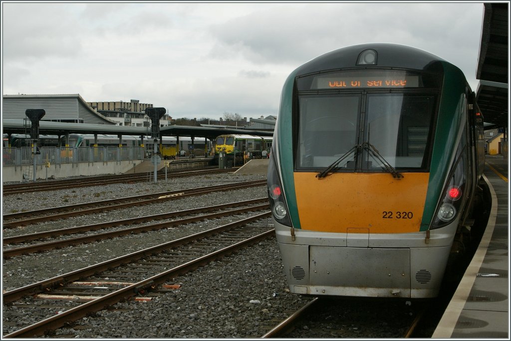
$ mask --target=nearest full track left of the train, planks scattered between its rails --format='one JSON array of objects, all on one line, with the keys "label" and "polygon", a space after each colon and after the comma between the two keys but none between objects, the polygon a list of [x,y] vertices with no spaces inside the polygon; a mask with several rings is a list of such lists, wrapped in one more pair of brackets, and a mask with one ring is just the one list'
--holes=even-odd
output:
[{"label": "nearest full track left of the train, planks scattered between its rails", "polygon": [[[41,336],[122,300],[150,300],[153,295],[164,295],[174,285],[169,283],[172,278],[274,236],[272,228],[253,226],[270,214],[257,214],[6,291],[3,337]],[[63,300],[68,303],[63,304]],[[39,321],[27,326],[22,318],[26,315],[38,316]]]}]

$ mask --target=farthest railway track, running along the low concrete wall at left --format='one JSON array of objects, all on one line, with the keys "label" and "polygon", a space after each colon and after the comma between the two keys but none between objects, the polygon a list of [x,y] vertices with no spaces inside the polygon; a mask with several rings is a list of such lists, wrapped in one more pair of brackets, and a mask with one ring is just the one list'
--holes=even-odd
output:
[{"label": "farthest railway track, running along the low concrete wall at left", "polygon": [[[165,179],[167,178],[176,178],[176,177],[190,177],[190,176],[200,176],[207,174],[217,174],[217,173],[226,173],[226,172],[234,172],[237,168],[228,168],[228,169],[218,169],[218,168],[205,168],[198,169],[193,171],[184,171],[184,172],[169,172],[167,175],[162,173],[161,171],[157,174],[157,179]],[[114,183],[134,183],[134,182],[142,182],[148,181],[149,173],[138,173],[138,174],[121,174],[121,175],[112,175],[112,176],[101,176],[101,177],[86,177],[79,179],[67,179],[67,180],[53,180],[49,182],[31,182],[31,183],[22,183],[22,184],[9,184],[3,186],[3,194],[20,194],[27,192],[36,192],[36,191],[50,191],[50,190],[59,190],[64,188],[77,188],[77,187],[87,187],[87,186],[99,186],[105,184],[114,184]],[[150,179],[152,180],[152,179]]]}]

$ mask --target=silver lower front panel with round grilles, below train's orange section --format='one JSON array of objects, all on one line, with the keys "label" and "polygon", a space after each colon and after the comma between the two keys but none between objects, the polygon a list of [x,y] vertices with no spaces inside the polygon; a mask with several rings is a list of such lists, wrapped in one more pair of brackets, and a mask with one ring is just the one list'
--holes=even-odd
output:
[{"label": "silver lower front panel with round grilles, below train's orange section", "polygon": [[279,242],[291,292],[429,298],[438,295],[450,247],[353,248]]}]

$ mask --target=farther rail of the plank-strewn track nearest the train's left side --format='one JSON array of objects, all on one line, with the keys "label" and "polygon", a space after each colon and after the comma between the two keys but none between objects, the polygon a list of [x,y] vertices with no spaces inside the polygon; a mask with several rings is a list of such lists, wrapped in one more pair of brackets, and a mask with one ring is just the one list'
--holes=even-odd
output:
[{"label": "farther rail of the plank-strewn track nearest the train's left side", "polygon": [[39,281],[39,282],[29,284],[29,285],[26,285],[26,286],[23,286],[20,288],[16,288],[13,290],[5,291],[5,293],[3,293],[3,296],[2,296],[3,301],[4,301],[4,303],[12,302],[12,301],[18,300],[24,296],[38,294],[44,290],[47,290],[47,288],[52,288],[52,287],[56,287],[56,286],[59,286],[61,284],[67,283],[67,282],[73,282],[76,280],[80,280],[82,278],[92,276],[98,272],[111,269],[112,267],[127,264],[130,262],[136,261],[138,259],[141,259],[143,257],[149,256],[151,254],[161,252],[162,250],[172,249],[174,247],[190,243],[194,240],[203,239],[203,238],[209,237],[211,235],[230,230],[234,227],[243,226],[250,222],[257,221],[262,218],[268,217],[270,215],[271,215],[270,211],[261,213],[261,214],[257,214],[257,215],[242,219],[237,222],[222,225],[222,226],[210,229],[210,230],[195,233],[190,236],[182,237],[182,238],[179,238],[176,240],[168,241],[166,243],[162,243],[160,245],[156,245],[156,246],[150,247],[148,249],[136,251],[136,252],[121,256],[121,257],[106,260],[106,261],[98,263],[98,264],[93,264],[93,265],[84,267],[83,269],[69,272],[67,274],[52,277],[52,278],[49,278],[49,279],[46,279],[43,281]]}]

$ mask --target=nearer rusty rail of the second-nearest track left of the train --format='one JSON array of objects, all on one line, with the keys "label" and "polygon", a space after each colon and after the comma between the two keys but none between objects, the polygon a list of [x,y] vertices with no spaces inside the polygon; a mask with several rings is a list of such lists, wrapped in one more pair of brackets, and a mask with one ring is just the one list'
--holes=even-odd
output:
[{"label": "nearer rusty rail of the second-nearest track left of the train", "polygon": [[145,226],[138,226],[138,227],[132,227],[122,230],[116,230],[116,231],[110,231],[110,232],[104,232],[104,233],[97,233],[92,235],[86,235],[82,237],[75,237],[75,238],[69,238],[64,240],[55,240],[55,241],[49,241],[49,242],[43,242],[38,243],[35,245],[30,245],[26,247],[20,247],[20,248],[12,248],[7,249],[3,251],[3,257],[4,259],[11,258],[14,256],[29,254],[29,253],[35,253],[35,252],[42,252],[42,251],[48,251],[48,250],[54,250],[58,248],[64,248],[68,246],[73,245],[80,245],[84,243],[89,242],[95,242],[99,240],[104,239],[110,239],[114,237],[120,237],[125,236],[129,234],[136,234],[136,233],[142,233],[142,232],[148,232],[148,231],[154,231],[158,229],[164,229],[168,228],[170,226],[178,226],[178,225],[184,225],[184,224],[190,224],[190,223],[196,223],[207,219],[214,219],[219,218],[227,215],[235,215],[240,213],[246,213],[250,211],[258,211],[263,209],[268,209],[270,206],[269,203],[259,205],[259,206],[251,206],[247,208],[239,208],[235,210],[229,210],[229,211],[221,211],[217,213],[211,213],[211,214],[204,214],[199,215],[191,218],[183,218],[171,222],[164,222],[164,223],[157,223],[157,224],[151,224],[151,225],[145,225]]}]

